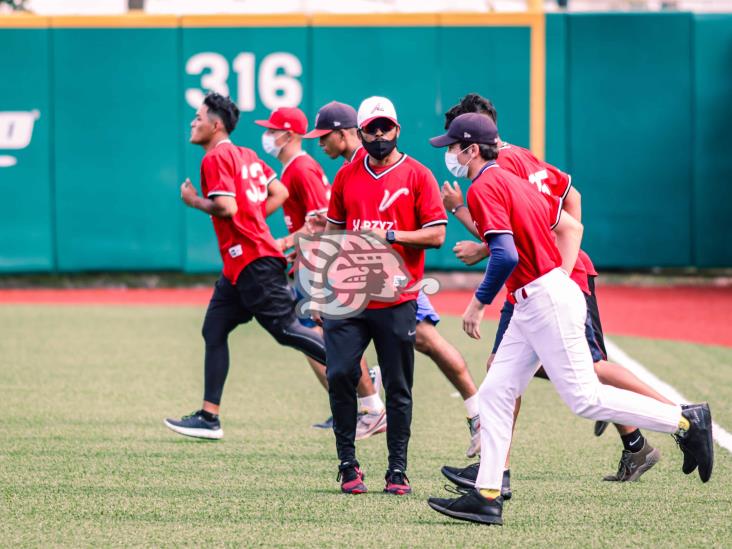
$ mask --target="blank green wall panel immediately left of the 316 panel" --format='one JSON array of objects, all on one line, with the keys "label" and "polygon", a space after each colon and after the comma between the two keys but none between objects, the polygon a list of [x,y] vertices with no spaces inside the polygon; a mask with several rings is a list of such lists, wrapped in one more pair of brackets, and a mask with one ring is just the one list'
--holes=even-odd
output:
[{"label": "blank green wall panel immediately left of the 316 panel", "polygon": [[54,29],[58,268],[180,269],[177,29]]}]

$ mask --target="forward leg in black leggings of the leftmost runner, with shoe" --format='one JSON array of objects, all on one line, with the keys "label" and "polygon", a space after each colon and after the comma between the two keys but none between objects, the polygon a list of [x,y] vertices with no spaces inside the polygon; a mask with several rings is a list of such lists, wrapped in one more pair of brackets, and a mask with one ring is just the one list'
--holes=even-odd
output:
[{"label": "forward leg in black leggings of the leftmost runner, with shoe", "polygon": [[196,438],[220,439],[219,405],[229,372],[229,333],[252,315],[241,304],[236,288],[223,276],[216,282],[206,310],[202,335],[206,344],[204,394],[200,410],[181,419],[167,418],[165,425],[176,433]]}]

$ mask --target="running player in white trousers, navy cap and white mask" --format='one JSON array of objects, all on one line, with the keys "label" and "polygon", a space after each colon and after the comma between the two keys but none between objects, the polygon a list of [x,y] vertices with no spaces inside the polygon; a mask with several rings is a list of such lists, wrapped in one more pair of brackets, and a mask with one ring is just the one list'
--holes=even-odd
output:
[{"label": "running player in white trousers, navy cap and white mask", "polygon": [[448,147],[448,168],[471,179],[467,207],[490,248],[491,261],[463,314],[463,330],[480,338],[483,307],[504,283],[515,301],[478,392],[482,440],[475,488],[459,498],[430,498],[430,507],[460,520],[503,523],[501,485],[515,401],[539,364],[575,414],[674,434],[684,453],[682,470],[698,466],[701,480],[708,481],[714,447],[707,404],[665,404],[597,379],[585,338],[587,305],[567,274],[577,262],[582,225],[562,212],[560,199],[536,193],[499,167],[498,130],[489,117],[462,114],[430,142]]}]

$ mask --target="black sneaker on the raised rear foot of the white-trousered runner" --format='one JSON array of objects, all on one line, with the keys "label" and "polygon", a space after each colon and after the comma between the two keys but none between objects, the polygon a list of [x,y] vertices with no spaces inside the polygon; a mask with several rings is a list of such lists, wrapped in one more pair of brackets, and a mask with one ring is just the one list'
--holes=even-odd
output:
[{"label": "black sneaker on the raised rear foot of the white-trousered runner", "polygon": [[[714,439],[712,438],[712,412],[709,404],[682,404],[681,415],[689,420],[688,431],[679,430],[674,435],[684,452],[682,471],[687,475],[699,466],[699,478],[707,482],[714,467]],[[688,471],[688,473],[687,473]]]}]

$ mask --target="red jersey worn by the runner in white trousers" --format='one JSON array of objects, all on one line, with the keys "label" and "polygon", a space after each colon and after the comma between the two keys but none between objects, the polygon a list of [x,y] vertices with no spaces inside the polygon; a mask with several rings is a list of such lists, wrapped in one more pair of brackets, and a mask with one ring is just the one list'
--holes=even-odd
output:
[{"label": "red jersey worn by the runner in white trousers", "polygon": [[552,269],[561,267],[552,228],[559,222],[561,202],[543,199],[518,176],[493,164],[468,189],[468,209],[483,238],[510,234],[519,262],[506,280],[513,292]]}]

